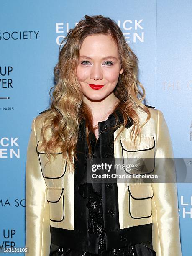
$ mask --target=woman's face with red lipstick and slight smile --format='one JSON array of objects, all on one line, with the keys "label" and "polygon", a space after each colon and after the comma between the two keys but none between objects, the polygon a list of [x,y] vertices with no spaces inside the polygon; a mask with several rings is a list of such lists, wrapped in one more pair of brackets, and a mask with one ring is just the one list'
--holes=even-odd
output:
[{"label": "woman's face with red lipstick and slight smile", "polygon": [[118,47],[109,35],[96,34],[84,39],[77,67],[84,100],[100,101],[109,97],[122,73]]}]

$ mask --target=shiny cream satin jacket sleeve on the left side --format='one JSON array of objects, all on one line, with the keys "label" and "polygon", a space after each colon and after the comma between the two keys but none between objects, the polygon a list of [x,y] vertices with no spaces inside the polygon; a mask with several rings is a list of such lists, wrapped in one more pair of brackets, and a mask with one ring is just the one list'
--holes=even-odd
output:
[{"label": "shiny cream satin jacket sleeve on the left side", "polygon": [[46,200],[46,183],[36,153],[35,121],[36,118],[31,126],[26,160],[26,256],[49,256],[49,203]]}]

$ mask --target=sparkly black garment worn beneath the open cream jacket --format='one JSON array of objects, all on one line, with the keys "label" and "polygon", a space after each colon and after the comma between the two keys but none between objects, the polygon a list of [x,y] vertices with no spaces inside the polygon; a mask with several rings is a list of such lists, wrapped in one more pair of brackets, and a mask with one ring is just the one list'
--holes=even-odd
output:
[{"label": "sparkly black garment worn beneath the open cream jacket", "polygon": [[[94,133],[90,133],[90,143],[93,158],[100,158],[100,140],[96,141]],[[88,148],[88,147],[87,147]],[[88,151],[87,151],[88,156]],[[84,177],[87,177],[87,157],[84,163]],[[89,209],[88,233],[97,234],[99,239],[99,256],[156,256],[153,250],[152,241],[139,243],[123,248],[114,248],[106,251],[105,248],[105,228],[102,214],[102,184],[91,184],[84,182],[79,186],[79,193],[87,200],[86,206]],[[86,251],[77,251],[72,248],[63,248],[51,243],[50,256],[95,256]]]}]

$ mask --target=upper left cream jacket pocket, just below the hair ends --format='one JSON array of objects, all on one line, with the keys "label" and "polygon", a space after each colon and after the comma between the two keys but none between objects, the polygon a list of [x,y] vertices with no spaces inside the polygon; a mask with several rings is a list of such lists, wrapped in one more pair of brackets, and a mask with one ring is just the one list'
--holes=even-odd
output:
[{"label": "upper left cream jacket pocket, just below the hair ends", "polygon": [[62,152],[51,154],[51,161],[48,161],[46,152],[40,150],[41,141],[38,141],[36,153],[38,154],[41,172],[46,179],[59,179],[66,172],[67,161],[64,160]]}]

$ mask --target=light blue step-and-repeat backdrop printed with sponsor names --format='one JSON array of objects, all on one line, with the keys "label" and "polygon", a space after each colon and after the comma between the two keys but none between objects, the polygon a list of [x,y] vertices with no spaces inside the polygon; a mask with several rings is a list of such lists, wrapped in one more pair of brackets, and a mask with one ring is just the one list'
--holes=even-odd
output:
[{"label": "light blue step-and-repeat backdrop printed with sponsor names", "polygon": [[[59,45],[84,15],[118,23],[138,56],[148,104],[164,114],[175,158],[192,157],[191,13],[191,0],[0,2],[0,248],[25,247],[31,123],[50,103]],[[177,190],[182,255],[190,256],[192,184]]]}]

